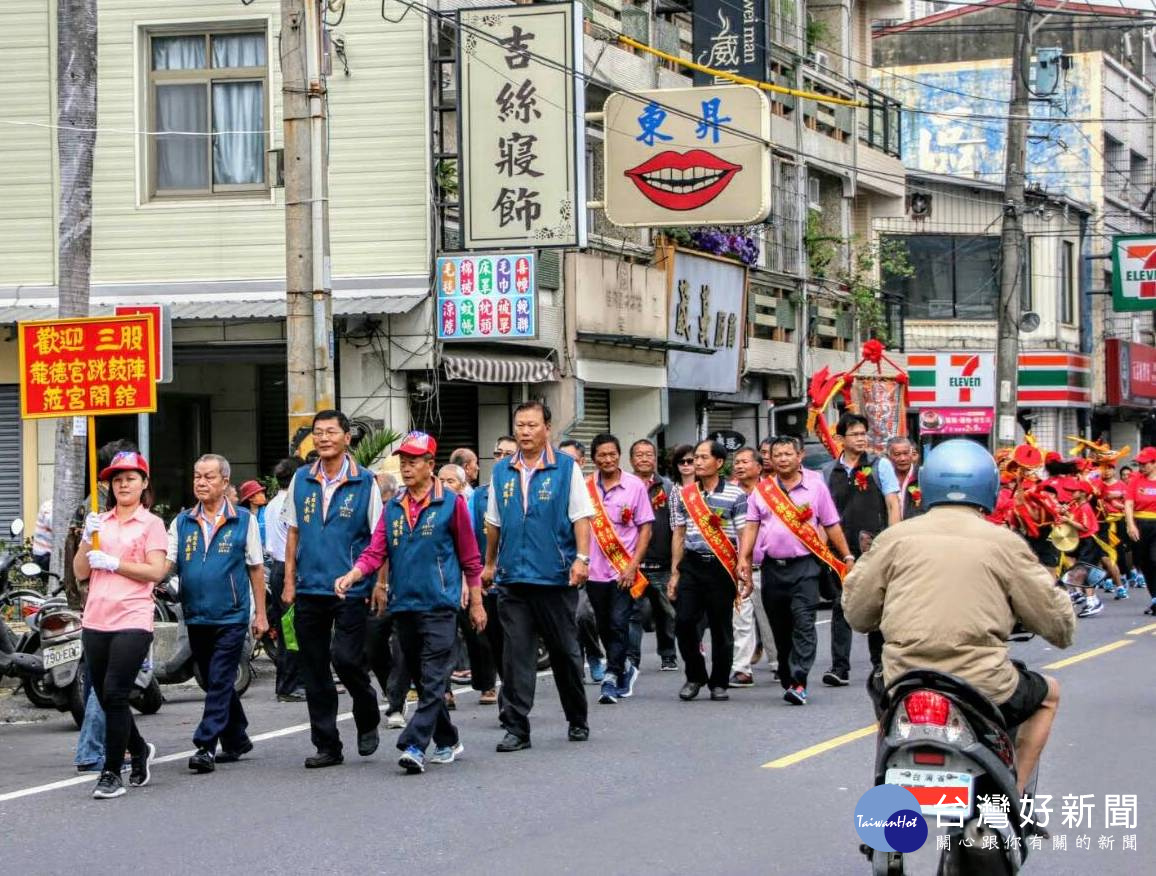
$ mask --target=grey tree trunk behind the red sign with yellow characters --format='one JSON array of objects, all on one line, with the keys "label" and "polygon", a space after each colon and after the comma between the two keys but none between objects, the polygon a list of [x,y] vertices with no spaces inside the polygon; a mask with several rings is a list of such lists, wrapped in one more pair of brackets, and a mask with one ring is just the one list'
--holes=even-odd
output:
[{"label": "grey tree trunk behind the red sign with yellow characters", "polygon": [[[87,317],[92,267],[92,151],[96,147],[96,1],[57,3],[57,157],[60,164],[58,315]],[[84,498],[83,438],[57,421],[52,483],[52,569],[64,571],[68,526]],[[71,570],[69,570],[71,571]]]}]

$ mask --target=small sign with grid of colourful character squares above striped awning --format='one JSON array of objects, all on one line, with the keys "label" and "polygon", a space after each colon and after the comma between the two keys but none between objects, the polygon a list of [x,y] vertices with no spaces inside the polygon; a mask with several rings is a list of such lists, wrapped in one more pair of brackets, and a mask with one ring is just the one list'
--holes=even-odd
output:
[{"label": "small sign with grid of colourful character squares above striped awning", "polygon": [[437,260],[439,341],[518,341],[538,335],[533,253]]}]

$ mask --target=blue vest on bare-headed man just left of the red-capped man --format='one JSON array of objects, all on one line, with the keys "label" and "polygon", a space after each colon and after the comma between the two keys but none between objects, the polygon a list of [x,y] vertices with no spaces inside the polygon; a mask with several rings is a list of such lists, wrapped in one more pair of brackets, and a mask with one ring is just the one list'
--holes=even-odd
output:
[{"label": "blue vest on bare-headed man just left of the red-capped man", "polygon": [[[332,596],[333,582],[354,567],[373,534],[369,526],[373,476],[349,458],[348,477],[321,514],[321,463],[299,468],[294,475],[292,503],[297,513],[297,593]],[[372,580],[349,588],[348,596],[368,596]]]}]

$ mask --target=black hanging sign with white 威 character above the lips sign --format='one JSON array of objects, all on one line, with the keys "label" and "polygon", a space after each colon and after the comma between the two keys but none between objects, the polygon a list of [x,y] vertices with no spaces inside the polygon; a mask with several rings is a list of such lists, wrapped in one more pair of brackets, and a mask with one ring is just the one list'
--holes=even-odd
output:
[{"label": "black hanging sign with white \u5a01 character above the lips sign", "polygon": [[[705,67],[766,79],[766,0],[695,0],[691,52]],[[696,86],[727,82],[695,70]]]}]

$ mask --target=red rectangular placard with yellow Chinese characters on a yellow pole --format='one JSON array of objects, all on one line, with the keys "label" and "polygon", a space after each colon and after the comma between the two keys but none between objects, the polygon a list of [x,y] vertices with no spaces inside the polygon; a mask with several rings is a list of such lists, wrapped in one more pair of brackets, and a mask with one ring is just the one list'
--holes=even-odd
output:
[{"label": "red rectangular placard with yellow Chinese characters on a yellow pole", "polygon": [[148,414],[156,410],[153,317],[20,324],[20,415]]}]

